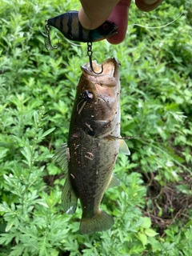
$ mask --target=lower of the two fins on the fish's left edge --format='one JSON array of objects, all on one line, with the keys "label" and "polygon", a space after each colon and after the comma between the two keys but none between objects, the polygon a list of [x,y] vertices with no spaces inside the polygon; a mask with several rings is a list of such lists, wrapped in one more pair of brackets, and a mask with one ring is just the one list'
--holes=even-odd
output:
[{"label": "lower of the two fins on the fish's left edge", "polygon": [[67,176],[62,190],[62,207],[66,214],[74,214],[78,205],[78,197],[70,184],[70,178]]}]

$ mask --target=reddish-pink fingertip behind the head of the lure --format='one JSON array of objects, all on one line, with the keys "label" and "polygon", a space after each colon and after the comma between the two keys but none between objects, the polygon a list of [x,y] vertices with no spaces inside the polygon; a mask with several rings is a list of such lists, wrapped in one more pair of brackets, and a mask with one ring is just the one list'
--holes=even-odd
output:
[{"label": "reddish-pink fingertip behind the head of the lure", "polygon": [[129,8],[131,0],[122,0],[118,2],[117,6],[110,14],[108,20],[114,22],[118,26],[118,34],[111,38],[107,38],[107,41],[112,44],[118,44],[126,37],[126,30],[128,26]]}]

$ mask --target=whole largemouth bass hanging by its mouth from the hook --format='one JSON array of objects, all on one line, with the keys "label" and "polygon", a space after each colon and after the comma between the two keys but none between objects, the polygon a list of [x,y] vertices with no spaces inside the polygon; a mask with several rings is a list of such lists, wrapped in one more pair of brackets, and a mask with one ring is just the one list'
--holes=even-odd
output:
[{"label": "whole largemouth bass hanging by its mouth from the hook", "polygon": [[[81,234],[109,230],[114,218],[100,209],[106,189],[120,185],[113,174],[118,152],[130,150],[120,136],[119,62],[108,58],[102,74],[94,74],[90,62],[82,65],[68,142],[58,148],[55,161],[67,169],[62,191],[66,214],[74,214],[78,198],[82,206]],[[93,61],[94,70],[101,66]],[[66,156],[66,158],[65,158]]]}]

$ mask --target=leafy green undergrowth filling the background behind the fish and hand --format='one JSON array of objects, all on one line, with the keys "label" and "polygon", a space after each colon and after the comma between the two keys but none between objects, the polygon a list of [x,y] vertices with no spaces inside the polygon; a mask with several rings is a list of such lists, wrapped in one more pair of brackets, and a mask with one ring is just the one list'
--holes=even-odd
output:
[{"label": "leafy green undergrowth filling the background behind the fish and hand", "polygon": [[[2,0],[0,5],[0,255],[191,255],[192,13],[186,1],[165,1],[149,14],[130,10],[126,40],[94,43],[98,62],[122,63],[122,186],[107,190],[102,209],[115,224],[78,232],[81,208],[63,214],[65,174],[53,161],[66,142],[86,44],[58,33],[44,46],[44,21],[77,0]],[[147,29],[134,26],[162,26]],[[56,44],[56,30],[51,38]]]}]

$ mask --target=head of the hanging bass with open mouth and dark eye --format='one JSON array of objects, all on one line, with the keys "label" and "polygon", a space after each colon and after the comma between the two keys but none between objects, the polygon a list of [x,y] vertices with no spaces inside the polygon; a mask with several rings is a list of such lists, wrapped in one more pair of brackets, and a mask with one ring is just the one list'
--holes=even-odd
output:
[{"label": "head of the hanging bass with open mouth and dark eye", "polygon": [[[95,72],[101,71],[96,61],[92,65]],[[82,66],[74,108],[82,129],[96,138],[119,136],[120,132],[119,62],[108,58],[102,68],[102,74],[95,74],[90,63]]]}]

